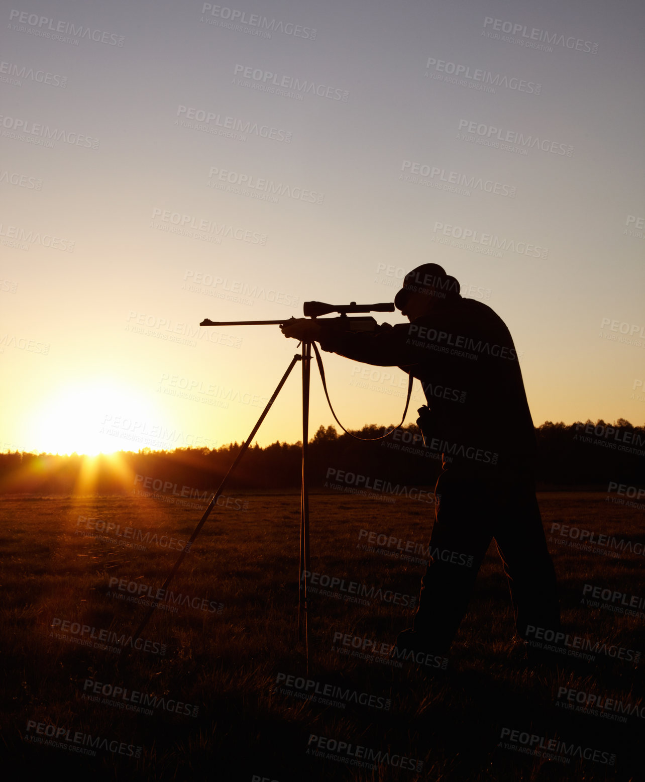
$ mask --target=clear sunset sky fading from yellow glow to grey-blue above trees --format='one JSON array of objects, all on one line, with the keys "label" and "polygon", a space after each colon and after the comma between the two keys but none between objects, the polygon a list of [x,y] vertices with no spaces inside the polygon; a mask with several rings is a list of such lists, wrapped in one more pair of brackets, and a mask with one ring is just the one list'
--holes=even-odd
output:
[{"label": "clear sunset sky fading from yellow glow to grey-blue above trees", "polygon": [[[536,425],[643,423],[642,3],[0,13],[2,450],[245,439],[296,342],[199,321],[391,301],[428,261],[506,321]],[[399,420],[400,371],[324,355],[343,423]]]}]

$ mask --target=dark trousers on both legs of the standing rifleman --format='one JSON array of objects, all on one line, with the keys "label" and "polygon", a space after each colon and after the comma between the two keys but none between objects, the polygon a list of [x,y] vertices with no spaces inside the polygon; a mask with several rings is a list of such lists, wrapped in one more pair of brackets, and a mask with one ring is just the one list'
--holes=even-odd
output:
[{"label": "dark trousers on both legs of the standing rifleman", "polygon": [[431,558],[421,580],[414,630],[427,634],[438,653],[448,651],[493,538],[511,590],[518,636],[525,639],[527,625],[559,629],[554,565],[532,478],[449,468],[439,475],[435,497]]}]

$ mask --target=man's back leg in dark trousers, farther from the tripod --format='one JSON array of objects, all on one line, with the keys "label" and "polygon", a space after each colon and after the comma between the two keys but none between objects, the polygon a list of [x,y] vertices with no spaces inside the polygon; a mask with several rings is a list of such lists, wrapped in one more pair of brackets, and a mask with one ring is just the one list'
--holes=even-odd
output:
[{"label": "man's back leg in dark trousers, farther from the tripod", "polygon": [[531,481],[500,491],[500,514],[494,527],[497,551],[511,590],[518,636],[527,640],[529,625],[560,628],[555,569]]}]

